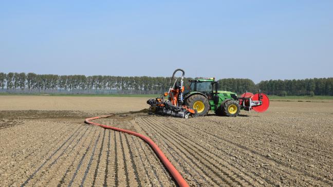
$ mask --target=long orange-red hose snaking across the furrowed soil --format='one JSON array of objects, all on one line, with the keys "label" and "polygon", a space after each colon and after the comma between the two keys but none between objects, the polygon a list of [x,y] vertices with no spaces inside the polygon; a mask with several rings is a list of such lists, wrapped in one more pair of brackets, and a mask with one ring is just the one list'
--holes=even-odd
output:
[{"label": "long orange-red hose snaking across the furrowed soil", "polygon": [[94,122],[90,121],[90,120],[96,120],[96,119],[99,119],[99,118],[107,118],[107,117],[110,117],[110,115],[87,118],[84,122],[87,123],[87,124],[97,125],[97,126],[100,126],[100,127],[103,127],[103,128],[116,130],[118,132],[127,133],[127,134],[134,135],[134,136],[137,136],[137,137],[141,138],[142,140],[147,142],[153,148],[154,152],[156,153],[158,158],[162,161],[164,166],[167,167],[167,170],[171,173],[172,177],[175,179],[177,184],[179,186],[189,186],[189,184],[186,182],[186,180],[184,180],[184,178],[176,170],[175,166],[172,165],[172,163],[168,160],[168,158],[165,157],[165,155],[163,154],[161,149],[150,138],[148,138],[146,136],[143,136],[139,133],[133,132],[131,130],[126,130],[126,129],[117,128],[117,127],[113,127],[113,126],[107,126],[107,125],[94,123]]}]

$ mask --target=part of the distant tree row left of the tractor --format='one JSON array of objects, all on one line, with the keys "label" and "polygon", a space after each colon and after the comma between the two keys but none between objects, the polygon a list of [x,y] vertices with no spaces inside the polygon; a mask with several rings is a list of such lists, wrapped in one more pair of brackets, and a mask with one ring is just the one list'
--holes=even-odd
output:
[{"label": "part of the distant tree row left of the tractor", "polygon": [[[188,82],[190,78],[186,78]],[[57,74],[0,73],[1,89],[39,90],[165,90],[170,78],[120,76],[58,76]]]}]

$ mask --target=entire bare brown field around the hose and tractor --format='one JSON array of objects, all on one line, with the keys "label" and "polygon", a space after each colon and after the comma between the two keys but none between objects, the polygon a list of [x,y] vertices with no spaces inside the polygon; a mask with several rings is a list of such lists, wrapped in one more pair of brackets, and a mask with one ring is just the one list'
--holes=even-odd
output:
[{"label": "entire bare brown field around the hose and tractor", "polygon": [[[0,184],[175,185],[141,139],[83,123],[145,101],[0,96]],[[333,185],[332,101],[273,101],[266,113],[236,118],[138,113],[96,121],[149,136],[190,185]]]}]

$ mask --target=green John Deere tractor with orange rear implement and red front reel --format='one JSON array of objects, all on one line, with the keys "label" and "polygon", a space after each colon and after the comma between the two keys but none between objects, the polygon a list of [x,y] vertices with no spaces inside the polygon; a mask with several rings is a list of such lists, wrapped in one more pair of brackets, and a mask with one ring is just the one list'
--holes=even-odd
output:
[{"label": "green John Deere tractor with orange rear implement and red front reel", "polygon": [[[176,79],[173,83],[177,71],[181,71],[182,76],[180,81]],[[237,97],[234,92],[218,90],[218,82],[214,78],[190,80],[190,86],[185,90],[184,74],[184,70],[176,69],[170,81],[169,91],[147,101],[156,113],[188,118],[206,116],[209,111],[214,111],[218,116],[235,117],[241,109],[264,112],[269,106],[269,99],[265,94],[259,92],[253,95],[246,92]]]}]

